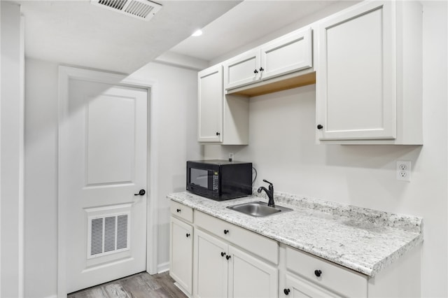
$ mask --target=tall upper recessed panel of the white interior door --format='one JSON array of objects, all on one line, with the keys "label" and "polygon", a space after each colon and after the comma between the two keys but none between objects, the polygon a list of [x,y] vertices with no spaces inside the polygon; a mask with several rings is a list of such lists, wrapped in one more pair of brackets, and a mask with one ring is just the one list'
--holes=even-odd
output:
[{"label": "tall upper recessed panel of the white interior door", "polygon": [[135,104],[133,98],[105,95],[88,104],[87,185],[133,180]]}]

